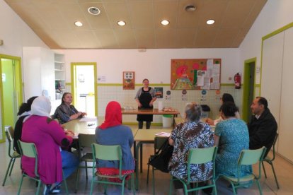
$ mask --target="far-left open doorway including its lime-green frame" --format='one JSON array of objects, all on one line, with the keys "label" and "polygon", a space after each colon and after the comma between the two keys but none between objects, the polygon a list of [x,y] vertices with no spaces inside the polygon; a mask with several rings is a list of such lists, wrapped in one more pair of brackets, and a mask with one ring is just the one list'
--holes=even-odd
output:
[{"label": "far-left open doorway including its lime-green frame", "polygon": [[[4,142],[5,126],[14,126],[18,107],[23,102],[21,58],[0,54],[1,73],[1,138]],[[4,104],[5,102],[5,104]]]}]

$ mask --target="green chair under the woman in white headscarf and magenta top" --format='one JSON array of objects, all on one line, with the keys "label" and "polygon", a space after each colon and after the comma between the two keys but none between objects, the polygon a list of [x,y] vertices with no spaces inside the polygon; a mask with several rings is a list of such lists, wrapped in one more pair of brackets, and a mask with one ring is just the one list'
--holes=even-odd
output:
[{"label": "green chair under the woman in white headscarf and magenta top", "polygon": [[[30,179],[33,179],[36,182],[38,182],[38,188],[37,188],[37,192],[35,194],[39,194],[40,193],[40,185],[42,184],[42,181],[40,180],[40,175],[38,174],[38,152],[37,152],[37,149],[35,148],[35,143],[25,143],[23,141],[18,140],[18,147],[21,150],[21,157],[26,156],[29,158],[35,158],[35,177],[30,177],[29,175],[27,175],[21,166],[21,170],[22,170],[23,174],[21,176],[21,183],[19,184],[17,194],[18,195],[21,194],[21,186],[23,184],[23,177],[29,177]],[[63,177],[64,177],[64,175],[63,175]],[[68,194],[66,179],[63,179],[63,182],[65,185],[66,194]]]}]

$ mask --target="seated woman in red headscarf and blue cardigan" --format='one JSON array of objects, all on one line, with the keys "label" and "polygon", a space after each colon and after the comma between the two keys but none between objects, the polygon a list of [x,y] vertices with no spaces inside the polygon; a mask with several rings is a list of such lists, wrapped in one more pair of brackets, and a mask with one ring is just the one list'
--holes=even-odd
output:
[{"label": "seated woman in red headscarf and blue cardigan", "polygon": [[[134,172],[134,158],[131,147],[134,142],[129,126],[122,125],[121,106],[118,102],[109,102],[105,110],[105,122],[96,128],[96,141],[101,145],[120,145],[122,148],[122,174]],[[100,175],[119,175],[118,161],[98,160],[97,172]],[[127,178],[129,179],[129,178]],[[120,179],[109,179],[120,182]]]}]

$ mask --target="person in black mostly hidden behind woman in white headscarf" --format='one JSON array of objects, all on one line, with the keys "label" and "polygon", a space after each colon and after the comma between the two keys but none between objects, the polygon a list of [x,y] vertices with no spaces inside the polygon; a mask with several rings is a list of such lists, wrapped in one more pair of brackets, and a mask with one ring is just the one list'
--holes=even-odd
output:
[{"label": "person in black mostly hidden behind woman in white headscarf", "polygon": [[25,117],[28,117],[29,115],[31,115],[30,107],[32,106],[33,100],[35,100],[35,98],[38,98],[38,96],[33,96],[32,98],[28,99],[28,101],[26,103],[24,102],[21,105],[21,107],[19,107],[19,110],[17,113],[18,120],[16,121],[16,126],[14,127],[13,148],[19,154],[21,153],[21,151],[18,148],[17,141],[21,140],[21,132],[23,129],[23,119],[25,119]]}]

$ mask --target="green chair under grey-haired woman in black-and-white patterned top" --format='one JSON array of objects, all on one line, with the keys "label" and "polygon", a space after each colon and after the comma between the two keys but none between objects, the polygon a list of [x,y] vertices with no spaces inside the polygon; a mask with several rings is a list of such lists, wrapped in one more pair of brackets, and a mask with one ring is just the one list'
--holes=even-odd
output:
[{"label": "green chair under grey-haired woman in black-and-white patterned top", "polygon": [[[211,148],[191,148],[189,150],[188,153],[188,180],[187,181],[183,181],[182,179],[178,179],[176,177],[173,177],[173,175],[171,175],[171,179],[170,179],[170,189],[169,189],[169,195],[171,195],[173,192],[173,181],[180,181],[183,184],[183,189],[184,189],[184,194],[188,195],[188,192],[190,191],[198,191],[200,189],[207,189],[207,188],[212,188],[212,192],[213,194],[217,195],[217,188],[216,188],[216,180],[215,180],[215,163],[214,160],[216,159],[216,155],[217,155],[217,147],[211,147]],[[199,182],[192,182],[190,180],[190,165],[191,164],[202,164],[202,163],[206,163],[206,162],[213,162],[213,173],[212,173],[212,177],[209,178],[208,180],[211,181],[211,184],[207,184],[203,187],[198,187],[198,183]],[[205,182],[205,181],[200,181],[200,182]],[[190,183],[195,184],[195,187],[188,189],[188,185]]]}]

